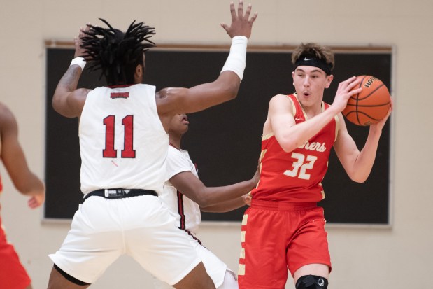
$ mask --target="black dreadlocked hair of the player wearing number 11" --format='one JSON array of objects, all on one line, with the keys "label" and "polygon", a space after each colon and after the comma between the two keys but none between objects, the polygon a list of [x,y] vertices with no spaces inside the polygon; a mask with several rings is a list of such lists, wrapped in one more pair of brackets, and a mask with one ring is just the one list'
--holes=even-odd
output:
[{"label": "black dreadlocked hair of the player wearing number 11", "polygon": [[89,62],[90,71],[101,69],[101,79],[105,76],[107,85],[134,84],[136,66],[143,63],[143,53],[155,47],[150,37],[155,34],[155,28],[144,22],[132,22],[124,33],[111,27],[104,19],[99,18],[108,28],[88,24],[89,31],[81,38],[81,48]]}]

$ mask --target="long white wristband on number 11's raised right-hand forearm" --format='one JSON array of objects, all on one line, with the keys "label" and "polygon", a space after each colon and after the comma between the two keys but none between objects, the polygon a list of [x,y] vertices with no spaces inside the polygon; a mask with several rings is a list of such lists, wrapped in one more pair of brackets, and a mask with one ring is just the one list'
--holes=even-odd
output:
[{"label": "long white wristband on number 11's raised right-hand forearm", "polygon": [[225,61],[222,71],[233,71],[239,78],[243,78],[243,70],[245,69],[246,59],[246,45],[248,38],[245,36],[234,36],[232,38],[232,46],[230,47],[230,53]]}]

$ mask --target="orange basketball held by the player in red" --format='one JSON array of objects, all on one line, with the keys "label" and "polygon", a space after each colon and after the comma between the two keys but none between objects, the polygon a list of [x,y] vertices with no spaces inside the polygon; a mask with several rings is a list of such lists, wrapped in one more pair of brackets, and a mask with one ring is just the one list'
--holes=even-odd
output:
[{"label": "orange basketball held by the player in red", "polygon": [[362,92],[353,95],[342,111],[347,120],[355,125],[372,125],[385,118],[391,104],[388,88],[374,76],[357,76],[361,82],[353,89]]}]

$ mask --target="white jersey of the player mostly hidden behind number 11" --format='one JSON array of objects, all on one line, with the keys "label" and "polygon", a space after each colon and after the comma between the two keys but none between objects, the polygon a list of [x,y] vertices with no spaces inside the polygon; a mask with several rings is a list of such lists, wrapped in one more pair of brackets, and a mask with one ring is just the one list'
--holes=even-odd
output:
[{"label": "white jersey of the player mostly hidden behind number 11", "polygon": [[164,190],[159,197],[169,207],[176,220],[178,220],[180,229],[197,234],[201,221],[199,205],[185,197],[182,192],[178,192],[169,181],[172,176],[183,171],[191,171],[198,178],[197,169],[192,163],[188,152],[169,146],[166,162],[166,182],[164,183]]}]

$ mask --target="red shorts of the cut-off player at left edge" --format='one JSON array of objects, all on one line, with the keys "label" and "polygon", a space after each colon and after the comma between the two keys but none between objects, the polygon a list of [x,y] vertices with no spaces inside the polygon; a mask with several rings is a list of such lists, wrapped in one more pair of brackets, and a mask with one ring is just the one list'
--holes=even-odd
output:
[{"label": "red shorts of the cut-off player at left edge", "polygon": [[22,289],[29,286],[30,282],[15,249],[6,241],[0,218],[0,288]]}]

